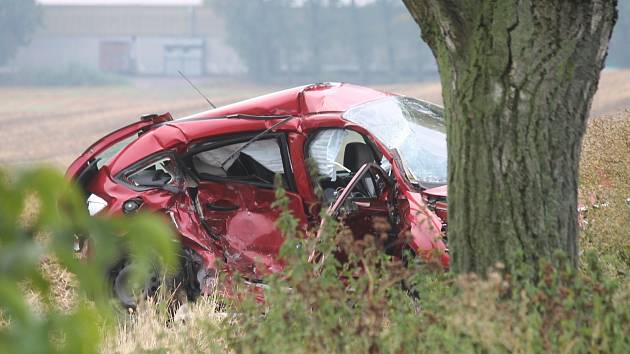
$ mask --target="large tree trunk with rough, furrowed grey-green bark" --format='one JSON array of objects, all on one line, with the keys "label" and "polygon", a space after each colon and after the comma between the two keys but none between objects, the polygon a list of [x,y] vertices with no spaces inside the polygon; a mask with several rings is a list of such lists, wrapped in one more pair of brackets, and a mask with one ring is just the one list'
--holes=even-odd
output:
[{"label": "large tree trunk with rough, furrowed grey-green bark", "polygon": [[616,0],[403,0],[437,59],[457,272],[578,254],[580,145]]}]

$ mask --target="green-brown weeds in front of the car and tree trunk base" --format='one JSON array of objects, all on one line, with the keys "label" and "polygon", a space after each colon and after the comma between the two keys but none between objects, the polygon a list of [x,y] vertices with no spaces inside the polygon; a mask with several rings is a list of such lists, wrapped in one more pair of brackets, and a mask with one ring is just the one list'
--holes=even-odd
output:
[{"label": "green-brown weeds in front of the car and tree trunk base", "polygon": [[[508,274],[498,264],[487,279],[439,273],[385,255],[378,234],[355,241],[332,220],[319,240],[305,238],[277,193],[287,267],[266,280],[264,304],[251,290],[231,302],[223,335],[235,352],[630,352],[630,288],[593,255],[578,271],[559,254],[536,282],[524,280],[527,265]],[[309,262],[312,254],[327,256]]]}]

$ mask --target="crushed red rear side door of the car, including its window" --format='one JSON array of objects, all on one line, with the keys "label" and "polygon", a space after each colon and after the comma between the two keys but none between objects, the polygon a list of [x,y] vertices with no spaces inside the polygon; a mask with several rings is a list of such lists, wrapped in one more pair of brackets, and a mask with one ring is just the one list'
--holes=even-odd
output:
[{"label": "crushed red rear side door of the car, including its window", "polygon": [[291,213],[301,225],[306,223],[302,198],[292,191],[286,151],[280,134],[253,142],[237,138],[210,143],[186,159],[199,179],[204,223],[221,243],[228,266],[250,279],[283,266],[278,255],[284,237],[275,224],[280,210],[273,205],[276,178],[287,189]]}]

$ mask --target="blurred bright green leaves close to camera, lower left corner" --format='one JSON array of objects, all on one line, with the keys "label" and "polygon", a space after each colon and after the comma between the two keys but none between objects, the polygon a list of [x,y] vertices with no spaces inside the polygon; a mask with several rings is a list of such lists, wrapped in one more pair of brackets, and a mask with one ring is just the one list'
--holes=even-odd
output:
[{"label": "blurred bright green leaves close to camera, lower left corner", "polygon": [[[75,235],[89,235],[94,252],[86,259],[73,250]],[[122,253],[139,265],[136,277],[156,261],[175,265],[175,243],[162,220],[93,218],[56,170],[17,176],[0,170],[0,352],[96,352],[101,330],[114,319],[106,271]],[[78,297],[68,310],[55,303],[46,262],[75,278]]]}]

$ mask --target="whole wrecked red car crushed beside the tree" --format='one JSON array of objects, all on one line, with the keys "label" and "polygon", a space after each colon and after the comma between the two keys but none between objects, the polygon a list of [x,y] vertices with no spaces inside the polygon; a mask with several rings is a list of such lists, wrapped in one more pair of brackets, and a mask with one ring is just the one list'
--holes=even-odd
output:
[{"label": "whole wrecked red car crushed beside the tree", "polygon": [[[254,283],[282,269],[276,175],[304,229],[329,206],[357,236],[384,217],[393,240],[406,237],[404,247],[449,266],[442,109],[414,98],[325,83],[176,120],[147,115],[67,171],[91,215],[166,214],[196,291],[217,260]],[[115,288],[125,267],[113,271]]]}]

